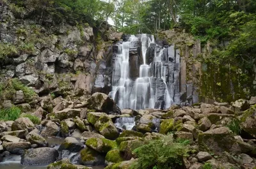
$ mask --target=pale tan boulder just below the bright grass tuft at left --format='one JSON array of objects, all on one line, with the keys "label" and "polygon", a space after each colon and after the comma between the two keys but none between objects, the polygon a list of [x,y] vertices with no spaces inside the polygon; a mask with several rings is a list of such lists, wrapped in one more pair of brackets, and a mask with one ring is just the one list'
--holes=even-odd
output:
[{"label": "pale tan boulder just below the bright grass tuft at left", "polygon": [[33,129],[35,125],[28,117],[21,117],[12,124],[12,130]]}]

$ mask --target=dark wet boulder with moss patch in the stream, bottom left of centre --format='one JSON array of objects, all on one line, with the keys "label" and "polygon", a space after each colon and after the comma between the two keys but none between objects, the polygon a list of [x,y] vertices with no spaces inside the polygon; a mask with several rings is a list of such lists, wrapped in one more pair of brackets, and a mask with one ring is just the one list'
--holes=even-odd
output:
[{"label": "dark wet boulder with moss patch in the stream, bottom left of centre", "polygon": [[89,147],[85,147],[81,152],[79,152],[80,158],[79,162],[82,165],[104,165],[105,160],[99,152],[94,151]]}]

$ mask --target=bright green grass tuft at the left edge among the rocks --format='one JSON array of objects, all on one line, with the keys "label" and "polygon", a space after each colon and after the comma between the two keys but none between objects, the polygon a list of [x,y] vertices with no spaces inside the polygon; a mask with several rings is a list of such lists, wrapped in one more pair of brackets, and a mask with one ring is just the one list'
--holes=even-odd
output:
[{"label": "bright green grass tuft at the left edge among the rocks", "polygon": [[5,108],[0,110],[0,121],[15,121],[19,118],[21,111],[17,107]]}]

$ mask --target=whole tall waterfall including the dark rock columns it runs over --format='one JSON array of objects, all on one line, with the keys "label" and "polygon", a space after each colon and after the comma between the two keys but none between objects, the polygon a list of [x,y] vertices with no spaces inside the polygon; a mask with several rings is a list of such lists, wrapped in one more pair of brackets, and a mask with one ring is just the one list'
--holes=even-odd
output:
[{"label": "whole tall waterfall including the dark rock columns it runs over", "polygon": [[[138,37],[132,35],[116,48],[109,96],[115,99],[118,107],[134,110],[169,108],[180,102],[180,57],[175,55],[173,46],[160,47],[154,36],[141,34]],[[136,59],[131,59],[134,54]],[[136,64],[140,68],[134,78],[131,72],[136,70]]]}]

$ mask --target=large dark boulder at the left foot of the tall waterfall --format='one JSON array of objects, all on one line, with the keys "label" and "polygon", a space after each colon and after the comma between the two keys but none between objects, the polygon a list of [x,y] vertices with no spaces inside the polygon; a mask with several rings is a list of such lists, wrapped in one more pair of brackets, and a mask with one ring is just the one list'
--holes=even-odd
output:
[{"label": "large dark boulder at the left foot of the tall waterfall", "polygon": [[120,114],[120,109],[116,106],[113,99],[108,95],[100,92],[95,92],[89,99],[88,105],[90,109],[100,112],[106,112],[107,114]]}]

